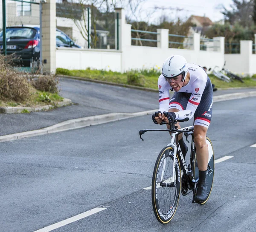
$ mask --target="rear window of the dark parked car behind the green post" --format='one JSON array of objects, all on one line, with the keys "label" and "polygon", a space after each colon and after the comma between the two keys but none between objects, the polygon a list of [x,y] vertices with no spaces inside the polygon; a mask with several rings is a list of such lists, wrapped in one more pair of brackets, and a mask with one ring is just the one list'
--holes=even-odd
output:
[{"label": "rear window of the dark parked car behind the green post", "polygon": [[[17,27],[6,28],[6,38],[10,39],[32,39],[35,37],[36,29]],[[0,40],[3,40],[3,31],[0,32]]]}]

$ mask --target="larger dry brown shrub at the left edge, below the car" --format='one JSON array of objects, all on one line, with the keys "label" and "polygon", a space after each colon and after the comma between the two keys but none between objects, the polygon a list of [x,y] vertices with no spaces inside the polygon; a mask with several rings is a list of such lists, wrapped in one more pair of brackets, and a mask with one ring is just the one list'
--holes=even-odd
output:
[{"label": "larger dry brown shrub at the left edge, below the car", "polygon": [[29,98],[29,81],[27,74],[13,70],[9,65],[12,57],[0,56],[0,97],[14,101]]}]

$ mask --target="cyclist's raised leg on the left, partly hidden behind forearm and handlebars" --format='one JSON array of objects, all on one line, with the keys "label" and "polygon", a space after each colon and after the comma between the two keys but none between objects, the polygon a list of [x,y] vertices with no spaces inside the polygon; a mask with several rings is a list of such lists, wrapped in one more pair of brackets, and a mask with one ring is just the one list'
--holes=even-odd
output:
[{"label": "cyclist's raised leg on the left, partly hidden behind forearm and handlebars", "polygon": [[[191,93],[187,94],[187,93],[175,92],[172,96],[172,99],[170,100],[168,111],[169,112],[178,112],[178,111],[186,109],[186,106],[188,104],[190,96],[191,96]],[[177,122],[176,126],[178,127],[178,129],[181,128],[179,122]],[[169,129],[170,126],[167,125],[167,128]],[[178,139],[179,139],[179,144],[180,144],[180,150],[183,154],[183,157],[185,158],[186,153],[188,151],[188,147],[183,140],[183,133],[178,135]]]}]

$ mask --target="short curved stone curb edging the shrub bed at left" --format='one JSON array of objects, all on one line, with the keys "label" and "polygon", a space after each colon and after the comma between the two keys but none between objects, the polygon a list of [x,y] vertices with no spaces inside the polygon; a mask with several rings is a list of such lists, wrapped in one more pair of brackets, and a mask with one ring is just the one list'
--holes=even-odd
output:
[{"label": "short curved stone curb edging the shrub bed at left", "polygon": [[30,112],[36,112],[41,110],[49,110],[54,108],[55,106],[61,107],[65,105],[72,104],[72,101],[68,98],[64,98],[62,102],[57,102],[56,105],[44,105],[40,107],[12,107],[12,106],[6,106],[6,107],[0,107],[0,113],[21,113],[23,110],[27,110]]}]

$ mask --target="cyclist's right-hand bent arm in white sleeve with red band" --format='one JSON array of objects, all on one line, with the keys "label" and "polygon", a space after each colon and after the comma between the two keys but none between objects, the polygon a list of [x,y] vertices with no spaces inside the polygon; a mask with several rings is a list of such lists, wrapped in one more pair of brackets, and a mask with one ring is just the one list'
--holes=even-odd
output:
[{"label": "cyclist's right-hand bent arm in white sleeve with red band", "polygon": [[180,120],[185,118],[192,119],[192,117],[194,116],[195,110],[198,108],[198,105],[201,102],[201,97],[203,95],[206,83],[207,83],[207,78],[195,80],[195,82],[192,85],[193,92],[189,98],[189,102],[186,107],[186,110],[182,110],[175,113],[176,115],[175,119],[180,119]]}]

